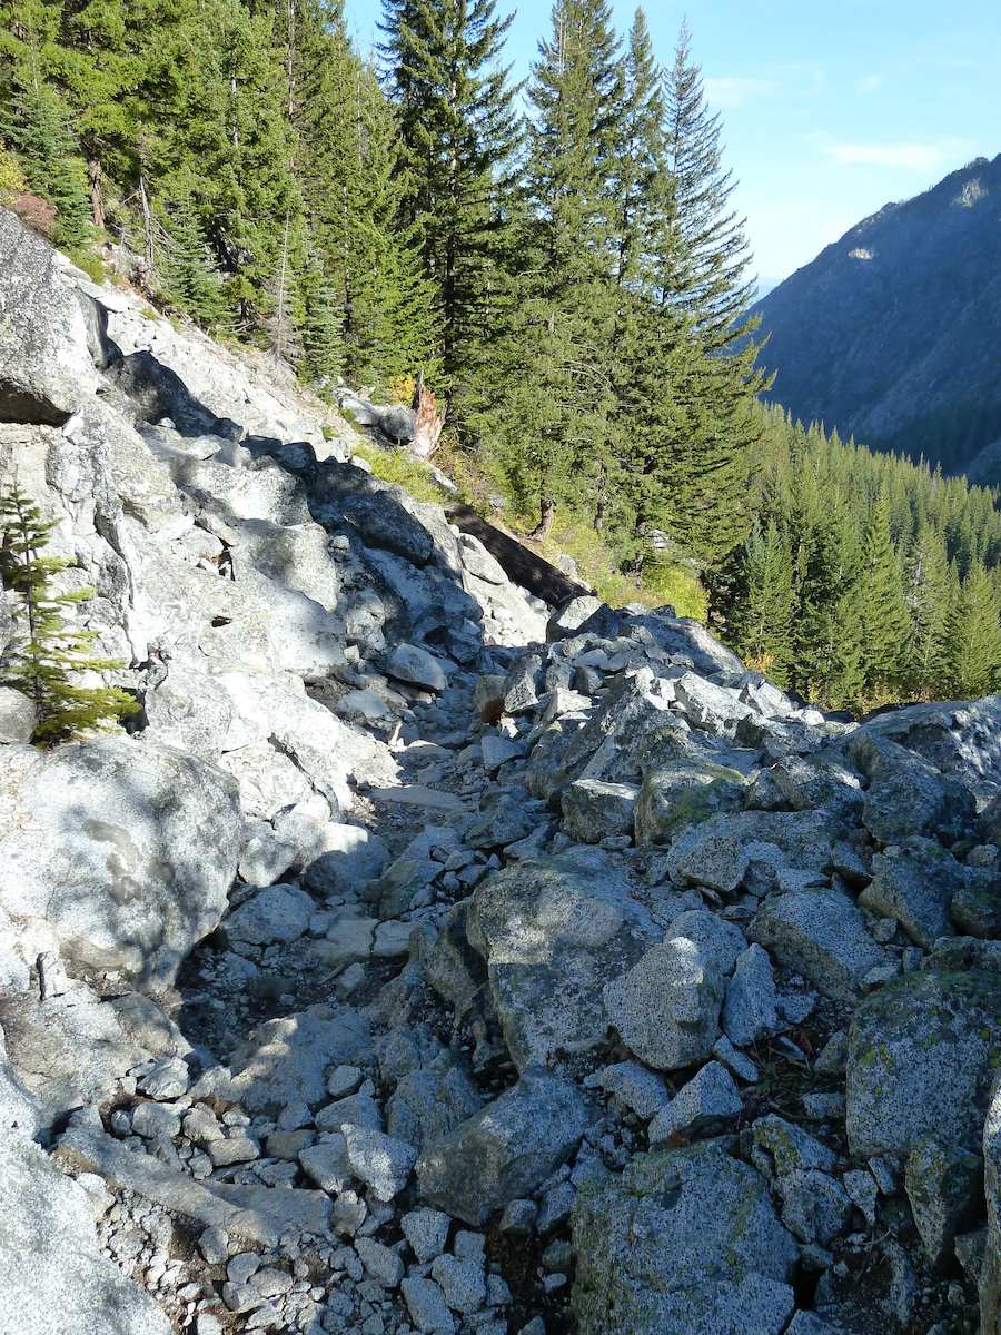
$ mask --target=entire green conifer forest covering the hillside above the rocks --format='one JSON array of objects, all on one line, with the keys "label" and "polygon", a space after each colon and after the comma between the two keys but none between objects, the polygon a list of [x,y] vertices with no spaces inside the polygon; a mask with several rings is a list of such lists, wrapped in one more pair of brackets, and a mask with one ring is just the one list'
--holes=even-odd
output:
[{"label": "entire green conifer forest covering the hillside above the rocks", "polygon": [[555,0],[517,84],[509,21],[384,0],[360,52],[340,0],[4,0],[0,203],[320,395],[423,374],[509,519],[574,515],[637,589],[697,563],[785,688],[998,689],[997,493],[758,402],[697,35],[655,52],[642,9]]}]

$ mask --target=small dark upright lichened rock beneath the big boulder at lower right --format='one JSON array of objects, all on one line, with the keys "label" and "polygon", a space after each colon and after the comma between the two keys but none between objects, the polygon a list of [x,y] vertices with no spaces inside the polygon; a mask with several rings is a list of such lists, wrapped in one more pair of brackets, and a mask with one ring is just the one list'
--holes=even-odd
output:
[{"label": "small dark upright lichened rock beneath the big boulder at lower right", "polygon": [[960,1145],[925,1136],[910,1151],[905,1185],[928,1259],[936,1270],[944,1270],[953,1259],[956,1235],[976,1219],[984,1160]]}]

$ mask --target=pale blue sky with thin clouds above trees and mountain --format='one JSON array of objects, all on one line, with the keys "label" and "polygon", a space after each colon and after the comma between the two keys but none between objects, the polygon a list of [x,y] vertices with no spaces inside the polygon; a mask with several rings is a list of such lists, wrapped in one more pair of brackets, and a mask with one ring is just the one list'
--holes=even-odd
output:
[{"label": "pale blue sky with thin clouds above trees and mountain", "polygon": [[[380,4],[346,9],[367,48]],[[613,9],[625,35],[635,5]],[[663,64],[687,17],[763,279],[786,278],[884,204],[1001,152],[997,0],[651,0],[645,9]],[[506,51],[515,76],[549,28],[549,4],[519,7]]]}]

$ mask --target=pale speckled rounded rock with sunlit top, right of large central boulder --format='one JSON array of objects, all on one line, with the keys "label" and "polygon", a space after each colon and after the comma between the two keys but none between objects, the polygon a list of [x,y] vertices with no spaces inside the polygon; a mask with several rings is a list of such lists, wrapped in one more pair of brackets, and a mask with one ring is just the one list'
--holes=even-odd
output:
[{"label": "pale speckled rounded rock with sunlit top, right of large central boulder", "polygon": [[641,1061],[674,1071],[711,1053],[723,975],[714,952],[678,936],[607,983],[603,1000],[609,1019]]}]

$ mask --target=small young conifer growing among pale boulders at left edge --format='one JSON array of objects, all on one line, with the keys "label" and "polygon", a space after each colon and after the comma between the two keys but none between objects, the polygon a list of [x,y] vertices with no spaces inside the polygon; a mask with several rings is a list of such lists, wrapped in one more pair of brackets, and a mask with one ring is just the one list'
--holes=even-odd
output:
[{"label": "small young conifer growing among pale boulders at left edge", "polygon": [[93,631],[67,625],[71,609],[93,590],[52,593],[52,577],[67,566],[65,561],[39,555],[52,527],[17,487],[0,497],[0,562],[19,626],[4,654],[1,680],[33,702],[37,717],[33,740],[43,745],[65,741],[139,709],[124,690],[76,684],[81,674],[108,672],[121,663],[91,657]]}]

